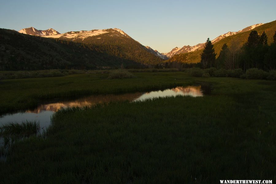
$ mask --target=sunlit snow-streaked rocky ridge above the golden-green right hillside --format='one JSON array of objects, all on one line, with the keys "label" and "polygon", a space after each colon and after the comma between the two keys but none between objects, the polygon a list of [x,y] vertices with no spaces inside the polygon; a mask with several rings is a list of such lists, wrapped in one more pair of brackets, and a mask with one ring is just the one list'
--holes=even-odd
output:
[{"label": "sunlit snow-streaked rocky ridge above the golden-green right hillside", "polygon": [[[240,31],[237,31],[237,32],[228,32],[228,33],[225,33],[225,34],[222,34],[220,36],[218,36],[217,38],[213,39],[211,42],[214,44],[214,43],[217,43],[218,41],[220,41],[221,39],[224,39],[228,36],[232,36],[232,35],[235,35],[237,33],[243,33],[243,32],[247,32],[247,31],[250,31],[260,25],[263,25],[263,23],[260,23],[260,24],[255,24],[255,25],[251,25],[251,26],[248,26]],[[177,48],[177,47],[176,47]],[[194,52],[196,50],[200,50],[200,49],[203,49],[204,48],[204,43],[201,43],[201,44],[197,44],[197,45],[194,45],[194,46],[190,46],[190,45],[185,45],[183,46],[182,48],[173,48],[171,50],[171,52],[168,52],[168,53],[162,53],[163,55],[171,58],[172,56],[176,55],[176,54],[184,54],[184,53],[188,53],[188,52]]]}]

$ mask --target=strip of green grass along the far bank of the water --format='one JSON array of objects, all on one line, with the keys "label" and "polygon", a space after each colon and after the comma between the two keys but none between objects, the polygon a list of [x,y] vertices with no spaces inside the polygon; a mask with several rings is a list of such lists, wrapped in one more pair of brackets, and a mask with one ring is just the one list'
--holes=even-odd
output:
[{"label": "strip of green grass along the far bank of the water", "polygon": [[190,85],[194,79],[181,72],[135,73],[134,79],[108,79],[109,74],[74,74],[63,77],[0,81],[0,114],[34,108],[43,100],[166,89]]}]

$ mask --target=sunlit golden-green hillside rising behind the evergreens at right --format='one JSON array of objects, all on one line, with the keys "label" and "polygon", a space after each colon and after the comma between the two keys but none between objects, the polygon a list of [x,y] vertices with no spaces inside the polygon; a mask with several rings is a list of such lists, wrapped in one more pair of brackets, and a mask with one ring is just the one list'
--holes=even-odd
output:
[{"label": "sunlit golden-green hillside rising behind the evergreens at right", "polygon": [[[217,57],[219,56],[221,48],[224,44],[227,44],[228,46],[235,44],[236,47],[241,48],[243,44],[247,42],[247,38],[252,29],[256,30],[259,34],[262,34],[263,32],[265,32],[268,38],[267,42],[268,44],[271,44],[273,42],[273,35],[276,30],[276,21],[272,21],[266,24],[252,25],[238,32],[233,32],[235,34],[232,34],[232,35],[230,34],[227,35],[227,33],[225,36],[220,35],[221,38],[218,38],[217,40],[214,39],[215,41],[212,40]],[[184,63],[199,63],[200,55],[202,51],[203,50],[199,48],[194,52],[176,54],[172,56],[170,59],[168,59],[166,62],[178,61],[178,62],[184,62]]]}]

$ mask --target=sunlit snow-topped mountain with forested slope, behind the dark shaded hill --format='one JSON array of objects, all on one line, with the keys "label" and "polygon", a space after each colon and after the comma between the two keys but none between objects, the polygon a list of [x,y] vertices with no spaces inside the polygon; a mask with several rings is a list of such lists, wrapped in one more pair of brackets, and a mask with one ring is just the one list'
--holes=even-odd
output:
[{"label": "sunlit snow-topped mountain with forested slope, behind the dark shaded hill", "polygon": [[124,31],[117,28],[70,31],[44,37],[86,44],[97,48],[99,52],[142,64],[156,65],[167,59],[161,54],[158,55],[157,52],[151,52],[138,41],[128,36]]}]

